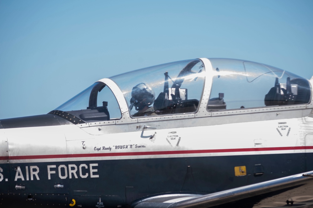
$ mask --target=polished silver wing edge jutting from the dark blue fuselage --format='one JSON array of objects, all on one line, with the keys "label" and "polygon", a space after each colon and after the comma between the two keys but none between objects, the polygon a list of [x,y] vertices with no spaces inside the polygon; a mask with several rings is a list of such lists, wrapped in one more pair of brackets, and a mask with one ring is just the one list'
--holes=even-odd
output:
[{"label": "polished silver wing edge jutting from the dark blue fuselage", "polygon": [[[271,181],[257,183],[239,188],[220,191],[212,194],[197,195],[197,194],[171,194],[166,193],[158,196],[151,196],[136,201],[132,207],[134,208],[207,208],[222,205],[225,203],[246,199],[261,194],[278,191],[286,188],[299,188],[299,186],[308,185],[312,187],[313,171],[305,172],[293,176],[283,177]],[[299,191],[298,191],[299,192]],[[311,191],[313,193],[313,191]],[[305,195],[308,195],[306,192]],[[301,196],[305,197],[305,196]],[[289,196],[289,202],[292,201],[292,196]],[[298,197],[299,198],[299,197]],[[312,198],[312,197],[311,197]],[[312,200],[310,198],[310,200]],[[284,200],[288,200],[287,198]],[[296,200],[295,200],[296,201]],[[288,203],[288,201],[286,201]],[[285,205],[286,202],[284,201]],[[301,201],[303,202],[303,200]],[[278,205],[282,205],[281,203]]]}]

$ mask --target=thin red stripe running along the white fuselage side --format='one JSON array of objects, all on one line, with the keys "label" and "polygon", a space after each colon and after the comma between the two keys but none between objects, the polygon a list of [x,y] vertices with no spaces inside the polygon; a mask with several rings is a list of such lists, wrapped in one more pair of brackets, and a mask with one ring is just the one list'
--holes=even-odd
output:
[{"label": "thin red stripe running along the white fuselage side", "polygon": [[0,160],[52,159],[52,158],[74,158],[74,157],[112,157],[112,156],[136,156],[136,155],[173,155],[173,154],[198,154],[198,153],[222,153],[222,152],[259,152],[259,151],[281,151],[281,150],[301,150],[301,149],[302,150],[313,149],[313,146],[180,150],[180,151],[157,151],[157,152],[112,152],[112,153],[63,154],[63,155],[25,155],[25,156],[9,156],[9,157],[4,156],[4,157],[0,157]]}]

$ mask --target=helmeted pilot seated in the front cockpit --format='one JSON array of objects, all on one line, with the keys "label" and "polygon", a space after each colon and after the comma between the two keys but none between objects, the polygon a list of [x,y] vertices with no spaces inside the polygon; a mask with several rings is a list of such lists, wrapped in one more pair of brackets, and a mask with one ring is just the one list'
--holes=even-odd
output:
[{"label": "helmeted pilot seated in the front cockpit", "polygon": [[135,109],[138,110],[138,112],[132,116],[156,115],[153,106],[149,107],[154,102],[154,99],[155,94],[153,89],[145,83],[140,83],[133,87],[131,91],[131,105],[129,108],[131,110],[135,106]]}]

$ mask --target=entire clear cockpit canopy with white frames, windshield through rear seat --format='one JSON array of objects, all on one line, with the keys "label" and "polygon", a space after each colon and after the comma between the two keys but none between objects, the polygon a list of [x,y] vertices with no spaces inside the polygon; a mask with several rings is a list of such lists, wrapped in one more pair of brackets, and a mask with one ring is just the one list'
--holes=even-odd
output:
[{"label": "entire clear cockpit canopy with white frames, windshield through rear seat", "polygon": [[[49,114],[71,123],[305,105],[308,80],[234,59],[177,61],[102,79]],[[201,111],[199,110],[201,109]]]}]

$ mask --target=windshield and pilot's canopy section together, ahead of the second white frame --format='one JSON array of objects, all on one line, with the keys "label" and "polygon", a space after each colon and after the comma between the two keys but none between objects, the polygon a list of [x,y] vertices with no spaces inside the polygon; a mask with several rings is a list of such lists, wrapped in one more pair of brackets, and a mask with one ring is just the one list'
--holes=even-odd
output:
[{"label": "windshield and pilot's canopy section together, ahead of the second white frame", "polygon": [[[131,118],[194,113],[205,80],[199,59],[148,67],[100,80],[50,114],[75,124],[121,119],[126,102]],[[116,96],[121,91],[124,98]]]}]

